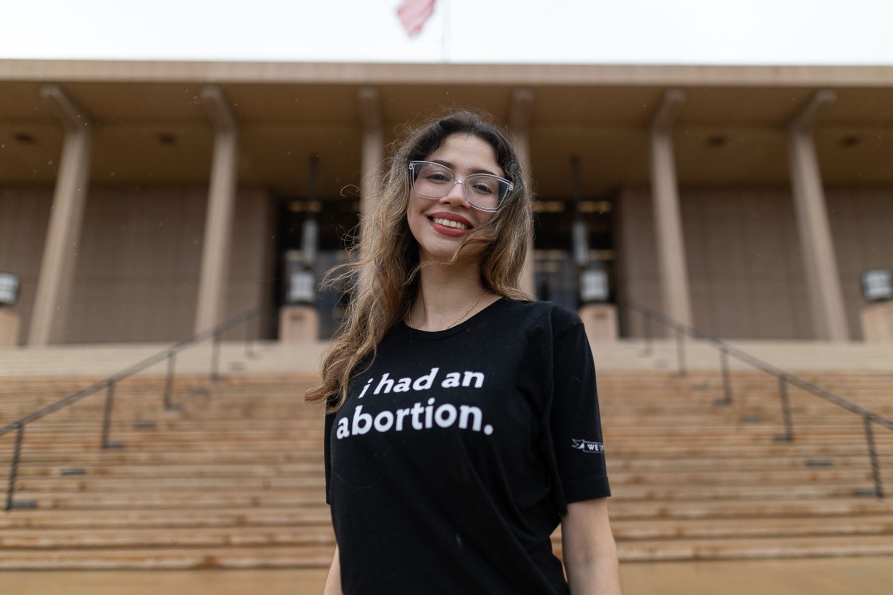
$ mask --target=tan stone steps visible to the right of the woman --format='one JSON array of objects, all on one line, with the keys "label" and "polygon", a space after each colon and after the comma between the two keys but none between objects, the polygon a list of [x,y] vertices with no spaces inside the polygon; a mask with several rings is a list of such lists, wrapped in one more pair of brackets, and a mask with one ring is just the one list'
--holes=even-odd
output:
[{"label": "tan stone steps visible to the right of the woman", "polygon": [[[824,386],[893,417],[893,375],[819,374]],[[624,560],[893,554],[893,498],[867,496],[862,420],[789,388],[794,442],[777,381],[737,372],[602,374],[614,535]],[[893,432],[875,429],[893,486]],[[890,494],[893,495],[893,494]]]}]

